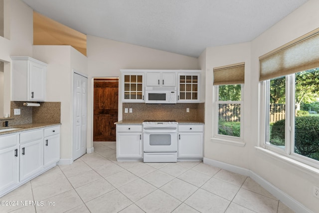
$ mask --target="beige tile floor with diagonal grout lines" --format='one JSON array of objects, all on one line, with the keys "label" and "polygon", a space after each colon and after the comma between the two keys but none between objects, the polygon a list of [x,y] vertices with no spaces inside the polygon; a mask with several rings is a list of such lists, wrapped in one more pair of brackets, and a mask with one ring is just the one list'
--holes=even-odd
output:
[{"label": "beige tile floor with diagonal grout lines", "polygon": [[249,177],[200,162],[117,162],[115,142],[94,147],[0,198],[38,205],[0,213],[293,213]]}]

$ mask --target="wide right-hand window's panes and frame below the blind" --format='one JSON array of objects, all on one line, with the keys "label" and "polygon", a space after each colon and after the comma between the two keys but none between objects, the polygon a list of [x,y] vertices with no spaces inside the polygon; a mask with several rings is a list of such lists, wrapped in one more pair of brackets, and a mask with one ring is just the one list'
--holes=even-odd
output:
[{"label": "wide right-hand window's panes and frame below the blind", "polygon": [[265,143],[319,161],[319,68],[267,80],[266,94]]}]

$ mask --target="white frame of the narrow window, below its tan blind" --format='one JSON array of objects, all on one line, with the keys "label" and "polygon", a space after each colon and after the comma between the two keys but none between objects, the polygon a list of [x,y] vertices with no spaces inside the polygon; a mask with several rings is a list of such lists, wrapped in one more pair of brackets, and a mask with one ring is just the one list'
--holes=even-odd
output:
[{"label": "white frame of the narrow window, below its tan blind", "polygon": [[[240,84],[240,83],[238,83]],[[232,85],[232,84],[224,84]],[[237,146],[244,146],[244,83],[241,83],[241,100],[240,101],[219,101],[219,84],[213,85],[213,138],[214,142],[223,142]],[[240,104],[240,137],[218,134],[219,125],[219,104]]]}]

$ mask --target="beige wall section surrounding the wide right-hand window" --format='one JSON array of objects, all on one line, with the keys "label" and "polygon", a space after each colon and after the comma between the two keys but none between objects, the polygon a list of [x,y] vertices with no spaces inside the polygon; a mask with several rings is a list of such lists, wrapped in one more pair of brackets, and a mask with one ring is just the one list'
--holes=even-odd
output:
[{"label": "beige wall section surrounding the wide right-hand window", "polygon": [[252,83],[251,96],[251,161],[250,168],[258,175],[278,187],[292,198],[299,201],[313,212],[319,210],[319,200],[313,194],[313,186],[319,185],[319,174],[305,170],[299,170],[293,164],[286,164],[272,159],[270,156],[257,152],[254,146],[258,139],[258,78],[259,60],[258,57],[304,35],[319,27],[318,13],[319,1],[309,0],[296,11],[275,24],[269,30],[252,41],[252,66],[250,81]]}]

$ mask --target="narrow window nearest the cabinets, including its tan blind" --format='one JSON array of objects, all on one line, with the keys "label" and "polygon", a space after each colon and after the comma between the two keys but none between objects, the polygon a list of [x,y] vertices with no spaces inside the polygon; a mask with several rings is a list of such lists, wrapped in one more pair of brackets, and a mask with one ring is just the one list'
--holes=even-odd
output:
[{"label": "narrow window nearest the cabinets, including its tan blind", "polygon": [[245,63],[214,68],[213,137],[242,140],[243,85]]}]

